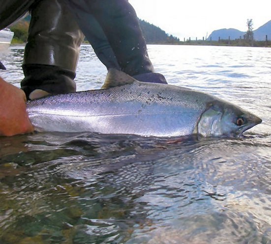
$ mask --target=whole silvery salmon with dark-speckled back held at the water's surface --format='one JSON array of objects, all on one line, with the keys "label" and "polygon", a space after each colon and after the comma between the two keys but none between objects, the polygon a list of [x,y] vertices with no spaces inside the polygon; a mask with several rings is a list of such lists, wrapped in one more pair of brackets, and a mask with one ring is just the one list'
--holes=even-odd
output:
[{"label": "whole silvery salmon with dark-speckled back held at the water's surface", "polygon": [[27,103],[30,121],[37,131],[162,137],[238,137],[261,123],[257,116],[214,96],[136,81],[115,70],[103,87],[32,100]]}]

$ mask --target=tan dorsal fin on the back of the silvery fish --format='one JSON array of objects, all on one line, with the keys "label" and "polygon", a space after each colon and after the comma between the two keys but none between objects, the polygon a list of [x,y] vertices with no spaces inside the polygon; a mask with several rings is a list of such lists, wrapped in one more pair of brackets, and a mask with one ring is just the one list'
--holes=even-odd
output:
[{"label": "tan dorsal fin on the back of the silvery fish", "polygon": [[125,74],[124,72],[116,69],[109,69],[101,89],[108,89],[115,86],[131,84],[134,81],[137,80]]}]

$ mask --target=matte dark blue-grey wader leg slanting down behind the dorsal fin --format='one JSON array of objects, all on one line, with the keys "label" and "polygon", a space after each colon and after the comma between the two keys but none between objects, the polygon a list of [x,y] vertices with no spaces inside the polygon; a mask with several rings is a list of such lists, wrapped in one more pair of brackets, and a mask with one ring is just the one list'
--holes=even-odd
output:
[{"label": "matte dark blue-grey wader leg slanting down behind the dorsal fin", "polygon": [[[139,81],[167,83],[163,75],[154,73],[138,18],[127,0],[66,1],[90,43],[93,39],[90,16],[98,21],[109,43],[107,46],[113,50],[121,71]],[[94,51],[98,49],[97,46],[93,47]],[[101,46],[100,50],[102,49]],[[106,53],[104,50],[103,52]],[[99,57],[98,52],[95,53]],[[115,68],[108,62],[103,63],[107,68]]]}]

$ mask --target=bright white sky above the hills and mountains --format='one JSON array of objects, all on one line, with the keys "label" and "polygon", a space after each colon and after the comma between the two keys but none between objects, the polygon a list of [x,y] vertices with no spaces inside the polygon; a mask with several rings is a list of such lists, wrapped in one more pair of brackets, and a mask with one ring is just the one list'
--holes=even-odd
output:
[{"label": "bright white sky above the hills and mountains", "polygon": [[254,30],[271,20],[271,0],[129,0],[137,16],[166,33],[192,40],[208,37],[213,30]]}]

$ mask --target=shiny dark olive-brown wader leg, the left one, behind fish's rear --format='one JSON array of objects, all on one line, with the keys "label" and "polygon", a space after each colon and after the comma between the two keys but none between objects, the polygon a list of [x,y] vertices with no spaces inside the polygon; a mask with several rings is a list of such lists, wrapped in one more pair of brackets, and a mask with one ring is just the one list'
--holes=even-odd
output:
[{"label": "shiny dark olive-brown wader leg, the left one, behind fish's rear", "polygon": [[39,97],[31,97],[34,90],[50,94],[74,92],[73,79],[84,35],[73,15],[63,0],[36,0],[30,13],[25,79],[21,82],[27,98]]}]

